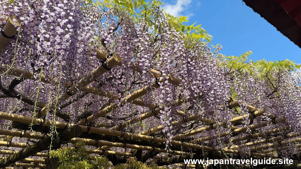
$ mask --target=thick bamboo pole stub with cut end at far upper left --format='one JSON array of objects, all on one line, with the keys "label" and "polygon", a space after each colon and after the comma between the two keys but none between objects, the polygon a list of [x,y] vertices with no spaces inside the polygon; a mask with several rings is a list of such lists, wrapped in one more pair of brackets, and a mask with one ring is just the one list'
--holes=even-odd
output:
[{"label": "thick bamboo pole stub with cut end at far upper left", "polygon": [[[14,35],[17,33],[17,29],[14,25],[20,26],[21,20],[17,16],[7,17],[5,19],[1,19],[1,22],[6,21],[5,26],[3,27],[3,34],[0,33],[0,54],[3,53],[3,49],[7,47],[7,45],[11,42],[11,39],[14,38]],[[1,30],[2,31],[2,30]]]}]

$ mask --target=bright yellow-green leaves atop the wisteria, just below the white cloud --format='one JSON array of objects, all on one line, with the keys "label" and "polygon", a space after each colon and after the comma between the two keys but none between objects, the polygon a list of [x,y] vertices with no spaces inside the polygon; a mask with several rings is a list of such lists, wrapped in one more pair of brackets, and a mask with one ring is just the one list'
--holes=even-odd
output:
[{"label": "bright yellow-green leaves atop the wisteria, just below the white cloud", "polygon": [[[91,0],[89,0],[91,1]],[[142,20],[146,22],[147,26],[146,30],[152,30],[152,33],[158,33],[157,30],[157,15],[153,15],[157,6],[162,5],[163,3],[159,0],[104,0],[103,2],[96,2],[98,6],[100,6],[103,10],[106,8],[115,8],[116,16],[121,19],[121,11],[126,11],[130,14],[130,16],[134,19],[134,21],[138,24]],[[200,41],[204,41],[205,43],[210,42],[213,38],[212,35],[209,35],[208,32],[201,27],[201,25],[196,25],[196,22],[192,25],[186,25],[185,22],[188,22],[187,17],[180,16],[174,17],[171,14],[166,13],[167,21],[169,25],[175,28],[178,32],[182,33],[182,36],[185,39],[185,45],[188,44],[188,41],[192,41],[193,43],[197,43]],[[152,34],[150,33],[150,35]],[[191,47],[191,46],[188,46]]]}]

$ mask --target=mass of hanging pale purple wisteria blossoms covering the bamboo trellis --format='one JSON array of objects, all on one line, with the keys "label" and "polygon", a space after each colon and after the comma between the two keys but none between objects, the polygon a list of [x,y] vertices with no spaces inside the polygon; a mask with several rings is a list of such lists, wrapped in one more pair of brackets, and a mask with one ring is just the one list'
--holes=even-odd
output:
[{"label": "mass of hanging pale purple wisteria blossoms covering the bamboo trellis", "polygon": [[[285,68],[257,69],[253,63],[246,63],[250,69],[241,71],[225,56],[218,54],[221,47],[211,49],[202,41],[195,43],[186,39],[185,32],[174,28],[159,6],[151,8],[148,14],[153,19],[151,22],[155,23],[154,27],[143,15],[137,20],[126,10],[101,8],[82,0],[2,0],[0,15],[1,19],[15,15],[21,20],[17,35],[3,49],[0,57],[3,70],[1,112],[31,117],[48,106],[54,109],[47,110],[45,119],[76,124],[115,103],[117,108],[95,118],[90,124],[110,129],[161,108],[158,114],[136,120],[122,130],[138,134],[163,126],[162,130],[150,135],[167,139],[167,150],[171,150],[172,140],[191,142],[204,137],[210,139],[196,143],[215,149],[230,149],[231,146],[262,140],[260,137],[247,140],[241,137],[289,126],[290,130],[277,134],[285,141],[292,139],[287,135],[301,129],[301,90],[296,75]],[[0,23],[1,26],[5,24],[6,21]],[[96,56],[96,49],[105,51],[107,59],[114,54],[122,58],[119,65],[89,84],[103,95],[85,93],[81,86],[77,86],[76,94],[69,99],[59,98],[72,84],[103,64]],[[11,75],[16,68],[32,71],[33,78]],[[152,70],[158,71],[156,75]],[[47,83],[42,81],[42,76]],[[172,84],[172,79],[180,82]],[[151,88],[151,84],[159,87]],[[122,105],[125,97],[146,86],[148,92],[139,97],[144,106],[132,101]],[[176,100],[183,103],[176,105]],[[239,107],[228,104],[234,100],[238,100]],[[153,104],[155,107],[151,106]],[[244,121],[232,124],[232,118],[256,112],[257,109],[250,111],[248,105],[265,113],[253,118],[247,116]],[[196,118],[189,120],[191,116]],[[276,124],[275,120],[281,118],[285,121]],[[183,119],[185,123],[172,123]],[[266,121],[269,121],[267,125],[263,125]],[[221,125],[223,122],[226,125]],[[2,129],[11,129],[11,121],[1,120],[0,124]],[[254,124],[258,127],[252,129],[250,126]],[[211,129],[189,134],[208,125]],[[231,126],[247,129],[237,134]],[[52,128],[50,133],[55,132]],[[228,134],[222,136],[224,132]],[[267,138],[274,137],[273,134],[268,135]],[[239,141],[233,142],[235,139]],[[13,138],[13,142],[26,141],[26,138]],[[297,153],[295,144],[290,143],[282,155],[290,157]],[[116,147],[110,149],[124,151]],[[251,150],[246,146],[240,149],[239,154],[248,157],[250,152],[262,153],[263,150]]]}]

